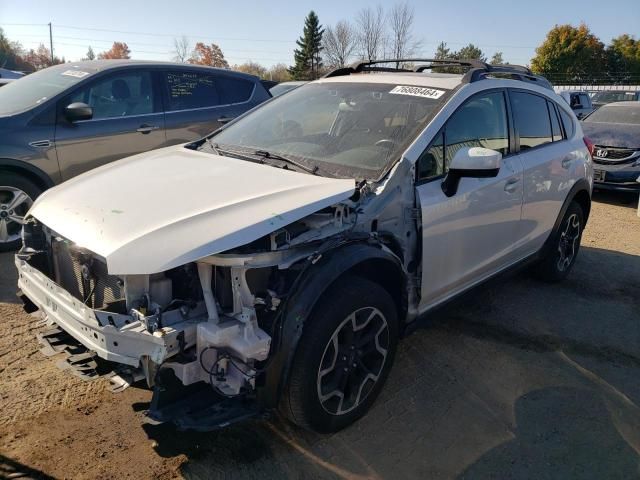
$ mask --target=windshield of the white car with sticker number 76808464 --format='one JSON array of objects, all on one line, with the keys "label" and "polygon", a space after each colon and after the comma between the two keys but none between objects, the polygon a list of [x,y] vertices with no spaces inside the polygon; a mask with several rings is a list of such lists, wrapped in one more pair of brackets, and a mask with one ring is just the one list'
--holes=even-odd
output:
[{"label": "windshield of the white car with sticker number 76808464", "polygon": [[425,127],[445,93],[390,84],[312,83],[264,104],[212,141],[221,149],[295,159],[321,175],[378,179]]}]

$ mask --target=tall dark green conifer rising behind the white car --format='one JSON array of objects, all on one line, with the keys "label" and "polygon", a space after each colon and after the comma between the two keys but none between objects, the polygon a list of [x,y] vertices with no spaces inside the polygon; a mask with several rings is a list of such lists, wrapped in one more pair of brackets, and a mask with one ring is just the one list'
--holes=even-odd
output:
[{"label": "tall dark green conifer rising behind the white car", "polygon": [[302,36],[296,41],[299,48],[293,52],[294,65],[289,72],[295,80],[314,80],[318,78],[322,60],[322,35],[324,29],[316,13],[311,10],[304,20]]}]

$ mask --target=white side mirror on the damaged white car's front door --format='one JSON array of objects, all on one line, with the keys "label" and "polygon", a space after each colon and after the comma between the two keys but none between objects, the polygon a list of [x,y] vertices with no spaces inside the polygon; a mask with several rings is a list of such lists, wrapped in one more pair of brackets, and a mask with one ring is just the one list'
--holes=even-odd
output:
[{"label": "white side mirror on the damaged white car's front door", "polygon": [[442,191],[451,197],[458,191],[463,177],[489,178],[500,171],[502,154],[482,147],[464,147],[458,150],[449,165],[447,176],[442,181]]}]

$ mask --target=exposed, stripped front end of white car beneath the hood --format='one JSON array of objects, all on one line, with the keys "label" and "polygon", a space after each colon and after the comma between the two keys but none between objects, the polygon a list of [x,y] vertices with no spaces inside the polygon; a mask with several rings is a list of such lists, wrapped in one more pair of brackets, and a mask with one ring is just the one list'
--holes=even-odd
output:
[{"label": "exposed, stripped front end of white car beneath the hood", "polygon": [[[103,257],[31,216],[16,255],[18,286],[51,323],[43,335],[50,352],[109,362],[116,390],[143,380],[154,389],[152,420],[215,429],[277,405],[313,301],[371,251],[397,266],[389,281],[405,318],[414,314],[418,220],[412,189],[401,187],[413,171],[400,165],[386,185],[363,183],[351,198],[250,243],[153,274],[110,274]],[[324,256],[354,244],[368,250],[327,266]],[[305,283],[318,269],[329,276]],[[313,300],[292,300],[302,289]],[[65,335],[84,350],[69,350]]]}]

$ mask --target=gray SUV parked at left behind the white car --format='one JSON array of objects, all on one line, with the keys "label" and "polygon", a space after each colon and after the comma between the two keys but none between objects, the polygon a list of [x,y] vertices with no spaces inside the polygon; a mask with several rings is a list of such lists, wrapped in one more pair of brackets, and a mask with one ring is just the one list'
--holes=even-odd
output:
[{"label": "gray SUV parked at left behind the white car", "polygon": [[19,245],[43,190],[201,138],[270,97],[251,75],[131,60],[66,63],[12,82],[0,90],[0,251]]}]

